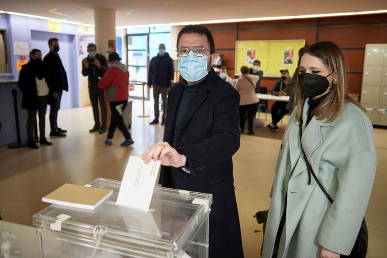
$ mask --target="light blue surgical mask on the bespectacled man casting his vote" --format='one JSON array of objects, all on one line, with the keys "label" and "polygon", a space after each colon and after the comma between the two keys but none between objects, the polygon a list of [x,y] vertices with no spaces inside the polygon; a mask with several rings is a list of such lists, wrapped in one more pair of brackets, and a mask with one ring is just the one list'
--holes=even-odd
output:
[{"label": "light blue surgical mask on the bespectacled man casting his vote", "polygon": [[189,52],[186,57],[178,57],[177,69],[186,81],[199,81],[208,74],[207,58],[206,55],[197,57],[194,52]]}]

